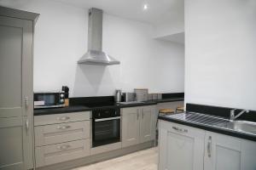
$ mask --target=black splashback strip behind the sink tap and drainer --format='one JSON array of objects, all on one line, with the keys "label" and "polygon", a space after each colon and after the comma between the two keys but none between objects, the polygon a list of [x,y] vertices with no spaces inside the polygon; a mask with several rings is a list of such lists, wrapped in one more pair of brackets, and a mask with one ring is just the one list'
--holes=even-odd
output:
[{"label": "black splashback strip behind the sink tap and drainer", "polygon": [[[229,108],[229,107],[199,105],[199,104],[190,104],[190,103],[187,103],[186,105],[186,111],[194,111],[194,112],[204,113],[204,114],[213,115],[213,116],[223,116],[225,118],[230,117],[230,111],[233,109],[234,108]],[[238,108],[238,110],[236,110],[236,114],[239,113],[240,111],[242,110]],[[250,111],[249,113],[244,113],[241,116],[239,116],[238,119],[256,122],[256,111]]]}]

